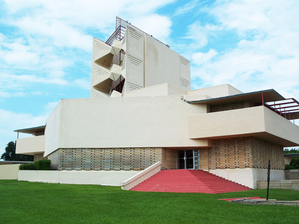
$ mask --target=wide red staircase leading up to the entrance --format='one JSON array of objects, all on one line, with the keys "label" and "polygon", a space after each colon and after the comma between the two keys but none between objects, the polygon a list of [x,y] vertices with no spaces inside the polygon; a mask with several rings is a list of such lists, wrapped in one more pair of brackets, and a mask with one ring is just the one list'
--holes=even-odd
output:
[{"label": "wide red staircase leading up to the entrance", "polygon": [[226,180],[203,170],[161,170],[130,191],[226,193],[251,188]]}]

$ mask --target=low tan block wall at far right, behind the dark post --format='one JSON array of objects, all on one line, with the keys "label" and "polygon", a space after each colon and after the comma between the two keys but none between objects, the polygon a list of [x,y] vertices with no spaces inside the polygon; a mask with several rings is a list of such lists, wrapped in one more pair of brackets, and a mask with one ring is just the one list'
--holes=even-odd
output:
[{"label": "low tan block wall at far right, behind the dark post", "polygon": [[[257,189],[266,189],[267,181],[257,181]],[[299,190],[299,180],[277,180],[270,181],[270,188]]]}]

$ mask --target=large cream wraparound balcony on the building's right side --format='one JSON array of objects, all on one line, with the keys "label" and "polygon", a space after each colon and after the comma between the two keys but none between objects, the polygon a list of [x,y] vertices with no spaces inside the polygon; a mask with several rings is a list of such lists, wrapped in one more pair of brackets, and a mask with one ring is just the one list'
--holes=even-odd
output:
[{"label": "large cream wraparound balcony on the building's right side", "polygon": [[299,126],[264,106],[190,115],[188,132],[190,139],[253,136],[284,147],[299,146]]}]

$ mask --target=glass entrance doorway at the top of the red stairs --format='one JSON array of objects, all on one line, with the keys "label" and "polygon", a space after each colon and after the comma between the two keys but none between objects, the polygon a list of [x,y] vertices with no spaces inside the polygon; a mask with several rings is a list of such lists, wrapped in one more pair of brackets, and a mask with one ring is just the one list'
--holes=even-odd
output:
[{"label": "glass entrance doorway at the top of the red stairs", "polygon": [[178,150],[177,169],[199,169],[199,150]]}]

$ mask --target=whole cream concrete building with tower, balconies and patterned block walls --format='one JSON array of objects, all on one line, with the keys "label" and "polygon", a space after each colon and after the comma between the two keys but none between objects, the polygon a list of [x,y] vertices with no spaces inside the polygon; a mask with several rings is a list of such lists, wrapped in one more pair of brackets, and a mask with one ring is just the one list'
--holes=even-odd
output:
[{"label": "whole cream concrete building with tower, balconies and patterned block walls", "polygon": [[161,162],[255,188],[269,159],[272,180],[283,180],[284,147],[299,145],[295,99],[228,84],[190,90],[190,62],[120,18],[106,42],[93,40],[90,97],[63,99],[45,125],[16,130],[35,135],[17,139],[16,153],[64,174],[128,178]]}]

